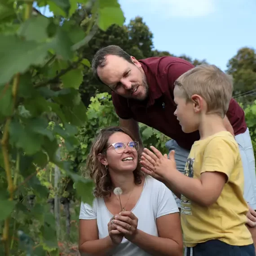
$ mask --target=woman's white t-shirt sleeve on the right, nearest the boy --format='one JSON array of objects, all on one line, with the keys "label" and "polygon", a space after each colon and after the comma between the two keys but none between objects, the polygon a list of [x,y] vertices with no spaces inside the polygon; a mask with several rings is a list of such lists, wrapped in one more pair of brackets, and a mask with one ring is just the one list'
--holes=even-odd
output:
[{"label": "woman's white t-shirt sleeve on the right, nearest the boy", "polygon": [[166,185],[161,183],[157,200],[156,218],[175,212],[179,212],[179,209],[173,194]]}]

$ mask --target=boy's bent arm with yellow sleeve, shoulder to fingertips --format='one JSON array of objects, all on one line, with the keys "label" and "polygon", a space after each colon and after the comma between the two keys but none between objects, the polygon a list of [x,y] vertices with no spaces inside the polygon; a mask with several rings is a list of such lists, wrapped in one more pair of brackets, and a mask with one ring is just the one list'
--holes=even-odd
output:
[{"label": "boy's bent arm with yellow sleeve, shoulder to fingertips", "polygon": [[[215,203],[234,169],[238,148],[233,141],[216,137],[210,141],[203,153],[203,165],[200,179],[186,177],[176,169],[174,151],[163,156],[159,150],[145,149],[143,154],[151,166],[150,172],[157,173],[170,184],[170,189],[183,194],[188,199],[204,206]],[[142,163],[144,165],[144,163]],[[150,174],[150,172],[147,172]],[[175,193],[176,194],[176,193]]]}]

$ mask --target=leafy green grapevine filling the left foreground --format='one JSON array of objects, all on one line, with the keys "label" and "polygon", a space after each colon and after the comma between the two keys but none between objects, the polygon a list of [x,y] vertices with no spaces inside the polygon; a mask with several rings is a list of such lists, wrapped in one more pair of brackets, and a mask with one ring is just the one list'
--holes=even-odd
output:
[{"label": "leafy green grapevine filling the left foreground", "polygon": [[[79,199],[92,197],[93,182],[74,171],[69,157],[79,146],[78,127],[87,122],[78,91],[89,66],[84,47],[98,28],[122,26],[124,15],[117,0],[81,2],[93,10],[86,32],[84,17],[72,18],[75,0],[37,1],[49,4],[50,18],[32,0],[0,2],[0,255],[59,255],[47,204],[58,191],[41,183],[42,172],[57,166]],[[58,154],[60,147],[67,155]]]}]

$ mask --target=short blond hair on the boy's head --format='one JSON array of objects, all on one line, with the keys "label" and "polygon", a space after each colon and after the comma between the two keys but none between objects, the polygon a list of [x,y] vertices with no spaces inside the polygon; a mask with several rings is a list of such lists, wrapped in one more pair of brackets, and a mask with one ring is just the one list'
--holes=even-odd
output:
[{"label": "short blond hair on the boy's head", "polygon": [[233,81],[215,65],[202,64],[182,74],[174,83],[183,91],[187,102],[194,94],[207,103],[207,114],[224,117],[233,93]]}]

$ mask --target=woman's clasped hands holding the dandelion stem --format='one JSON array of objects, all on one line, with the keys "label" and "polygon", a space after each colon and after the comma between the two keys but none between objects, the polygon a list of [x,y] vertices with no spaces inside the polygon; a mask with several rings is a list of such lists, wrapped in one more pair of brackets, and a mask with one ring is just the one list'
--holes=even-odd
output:
[{"label": "woman's clasped hands holding the dandelion stem", "polygon": [[132,241],[137,234],[137,225],[138,219],[132,212],[120,212],[119,215],[113,216],[108,223],[109,236],[116,244],[121,243],[123,237]]}]

